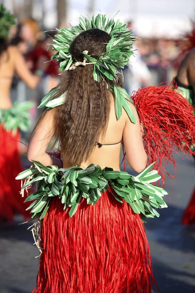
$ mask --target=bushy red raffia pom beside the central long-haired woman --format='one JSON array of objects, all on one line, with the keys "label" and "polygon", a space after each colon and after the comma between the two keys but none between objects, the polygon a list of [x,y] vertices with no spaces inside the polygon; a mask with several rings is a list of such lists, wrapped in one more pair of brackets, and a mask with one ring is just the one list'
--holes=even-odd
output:
[{"label": "bushy red raffia pom beside the central long-haired woman", "polygon": [[[172,88],[171,88],[172,87]],[[133,92],[132,99],[144,126],[143,142],[148,164],[156,161],[155,169],[162,176],[164,186],[165,164],[174,166],[174,153],[193,154],[195,144],[195,116],[193,106],[169,86],[149,86]]]}]

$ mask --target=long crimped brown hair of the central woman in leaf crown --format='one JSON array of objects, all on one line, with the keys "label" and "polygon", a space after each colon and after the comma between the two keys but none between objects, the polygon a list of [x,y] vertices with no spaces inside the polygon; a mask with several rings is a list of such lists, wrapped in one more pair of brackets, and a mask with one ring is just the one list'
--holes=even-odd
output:
[{"label": "long crimped brown hair of the central woman in leaf crown", "polygon": [[[82,32],[71,44],[74,61],[83,61],[84,50],[98,59],[110,39],[99,29]],[[55,111],[55,130],[62,156],[75,165],[89,158],[100,135],[106,132],[111,91],[108,80],[94,80],[93,64],[65,71],[55,98],[65,91],[65,103]]]}]

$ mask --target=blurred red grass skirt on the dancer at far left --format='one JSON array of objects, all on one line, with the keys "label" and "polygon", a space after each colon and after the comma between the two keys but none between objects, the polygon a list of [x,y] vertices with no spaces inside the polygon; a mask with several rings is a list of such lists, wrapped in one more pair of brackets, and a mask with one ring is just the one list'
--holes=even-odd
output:
[{"label": "blurred red grass skirt on the dancer at far left", "polygon": [[20,181],[15,180],[22,171],[19,154],[19,130],[13,134],[0,125],[0,220],[13,220],[15,211],[29,217],[20,195]]}]

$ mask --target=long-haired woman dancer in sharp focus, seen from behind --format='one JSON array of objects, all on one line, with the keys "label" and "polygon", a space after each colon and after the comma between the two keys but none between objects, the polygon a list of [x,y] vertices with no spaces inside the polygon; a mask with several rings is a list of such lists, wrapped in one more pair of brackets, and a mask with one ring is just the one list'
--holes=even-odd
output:
[{"label": "long-haired woman dancer in sharp focus, seen from behind", "polygon": [[[54,49],[59,52],[54,58],[64,76],[39,106],[45,110],[27,153],[34,166],[17,177],[27,178],[22,191],[36,182],[36,191],[25,200],[33,200],[28,209],[41,221],[40,235],[40,222],[33,227],[42,252],[33,292],[152,291],[152,263],[140,213],[159,216],[156,208],[167,207],[162,198],[167,193],[151,185],[160,179],[150,171],[154,164],[142,171],[147,155],[138,114],[120,83],[118,68],[129,62],[134,41],[125,24],[103,15],[80,19],[78,26],[56,36]],[[172,90],[161,90],[170,97]],[[151,109],[151,100],[149,104]],[[186,113],[193,117],[189,107]],[[147,111],[146,104],[142,110]],[[150,116],[155,121],[156,113]],[[169,124],[168,117],[158,116]],[[165,123],[158,118],[158,125]],[[191,134],[185,121],[180,129]],[[46,153],[54,134],[62,159]],[[122,139],[128,163],[142,171],[137,177],[120,171]]]}]

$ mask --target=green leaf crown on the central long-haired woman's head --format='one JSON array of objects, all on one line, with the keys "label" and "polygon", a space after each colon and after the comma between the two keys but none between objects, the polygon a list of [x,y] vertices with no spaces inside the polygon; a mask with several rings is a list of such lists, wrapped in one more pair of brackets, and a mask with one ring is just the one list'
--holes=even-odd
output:
[{"label": "green leaf crown on the central long-haired woman's head", "polygon": [[93,16],[91,20],[85,17],[79,18],[76,26],[59,30],[59,34],[55,36],[53,49],[58,53],[52,57],[60,63],[60,70],[68,70],[74,63],[74,59],[70,52],[71,43],[83,31],[98,28],[107,32],[111,36],[111,40],[106,46],[106,52],[101,54],[98,59],[93,58],[83,52],[83,56],[87,64],[94,64],[94,79],[99,82],[100,77],[106,77],[109,80],[116,80],[118,76],[117,68],[124,68],[129,63],[129,59],[133,54],[133,44],[135,36],[119,20],[107,19],[106,15],[98,14]]}]

